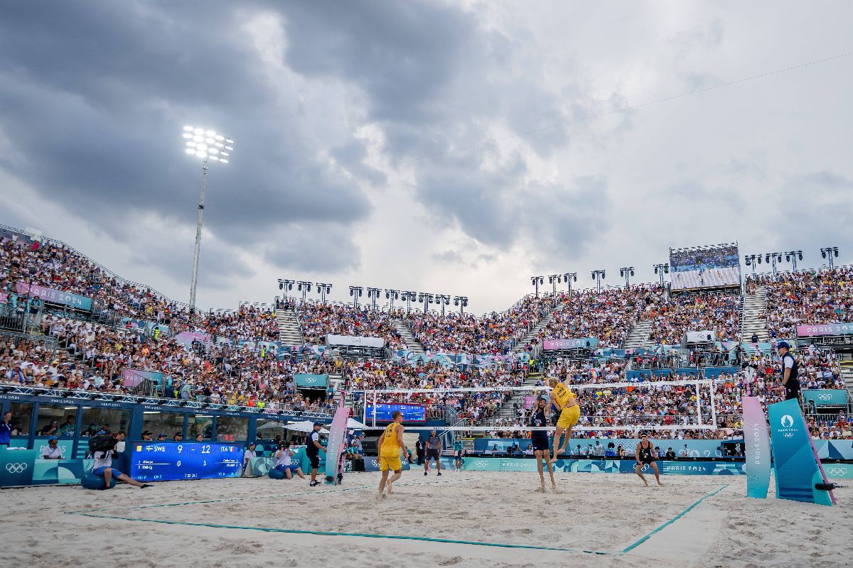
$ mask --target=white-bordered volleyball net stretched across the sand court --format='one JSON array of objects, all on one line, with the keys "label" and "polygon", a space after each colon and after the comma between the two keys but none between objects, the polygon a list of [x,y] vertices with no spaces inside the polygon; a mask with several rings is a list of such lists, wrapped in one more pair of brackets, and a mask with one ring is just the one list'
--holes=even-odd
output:
[{"label": "white-bordered volleyball net stretched across the sand court", "polygon": [[[666,432],[717,430],[717,407],[711,379],[650,382],[578,383],[580,419],[572,433]],[[426,416],[442,418],[446,426],[421,426],[403,420],[407,431],[442,433],[554,431],[558,413],[549,412],[548,426],[531,426],[537,400],[548,401],[546,386],[356,389],[358,414],[368,427],[383,427],[392,410],[423,407]],[[397,406],[399,405],[399,406]],[[550,406],[550,404],[546,404]],[[422,421],[420,421],[422,422]]]}]

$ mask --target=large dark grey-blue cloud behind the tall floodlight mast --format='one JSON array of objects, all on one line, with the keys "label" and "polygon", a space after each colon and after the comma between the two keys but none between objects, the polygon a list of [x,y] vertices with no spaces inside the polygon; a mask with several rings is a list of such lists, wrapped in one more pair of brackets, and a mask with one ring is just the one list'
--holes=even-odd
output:
[{"label": "large dark grey-blue cloud behind the tall floodlight mast", "polygon": [[[136,215],[192,223],[200,164],[180,155],[179,129],[198,121],[237,141],[232,164],[209,176],[206,226],[219,238],[252,246],[287,223],[368,214],[276,100],[231,4],[44,6],[12,3],[0,19],[0,131],[15,146],[0,166],[42,198],[106,220],[113,238],[128,238]],[[350,168],[364,155],[351,139],[322,143]]]}]

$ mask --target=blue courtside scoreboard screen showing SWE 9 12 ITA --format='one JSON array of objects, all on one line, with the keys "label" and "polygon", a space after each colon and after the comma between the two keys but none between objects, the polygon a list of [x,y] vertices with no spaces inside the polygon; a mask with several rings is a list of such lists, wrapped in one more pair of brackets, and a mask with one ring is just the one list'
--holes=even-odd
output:
[{"label": "blue courtside scoreboard screen showing SWE 9 12 ITA", "polygon": [[243,447],[236,444],[128,444],[130,476],[139,481],[239,477]]}]

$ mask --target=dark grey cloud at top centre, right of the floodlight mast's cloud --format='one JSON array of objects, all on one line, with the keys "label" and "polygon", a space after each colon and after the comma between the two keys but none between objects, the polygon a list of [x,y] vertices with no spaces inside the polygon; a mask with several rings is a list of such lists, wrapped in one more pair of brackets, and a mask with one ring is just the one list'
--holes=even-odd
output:
[{"label": "dark grey cloud at top centre, right of the floodlight mast's cloud", "polygon": [[[479,144],[500,138],[495,127],[538,129],[583,118],[591,107],[571,103],[586,92],[578,85],[556,95],[529,77],[518,80],[514,69],[533,62],[519,59],[525,50],[485,29],[476,14],[419,2],[298,3],[283,14],[287,63],[306,76],[347,77],[363,90],[369,118],[385,136],[386,157],[414,169],[415,200],[439,225],[506,249],[539,229],[580,244],[594,224],[606,222],[606,209],[595,209],[606,203],[603,190],[591,196],[591,208],[582,208],[585,215],[526,215],[525,194],[537,192],[527,186],[528,158]],[[568,141],[566,129],[547,129],[519,142],[549,157]],[[559,240],[545,238],[540,245],[559,246]]]}]

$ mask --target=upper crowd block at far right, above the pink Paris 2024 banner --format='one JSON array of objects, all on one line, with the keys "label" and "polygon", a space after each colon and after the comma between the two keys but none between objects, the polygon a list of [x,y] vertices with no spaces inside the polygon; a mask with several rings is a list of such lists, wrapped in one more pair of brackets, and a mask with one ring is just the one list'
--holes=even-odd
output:
[{"label": "upper crowd block at far right, above the pink Paris 2024 banner", "polygon": [[796,337],[797,325],[853,321],[853,269],[783,273],[750,278],[767,287],[769,337]]}]

